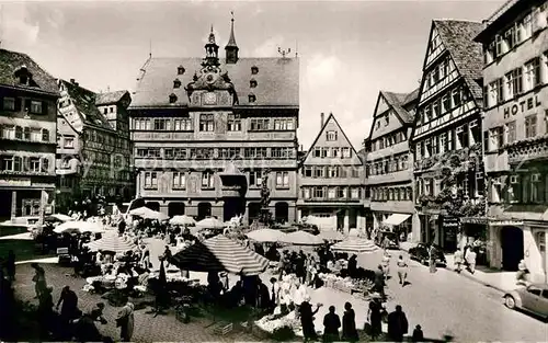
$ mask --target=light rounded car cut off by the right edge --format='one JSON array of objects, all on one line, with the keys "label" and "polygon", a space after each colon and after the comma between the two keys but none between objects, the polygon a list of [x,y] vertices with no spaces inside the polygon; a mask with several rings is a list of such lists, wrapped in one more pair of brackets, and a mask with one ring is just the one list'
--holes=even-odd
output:
[{"label": "light rounded car cut off by the right edge", "polygon": [[532,284],[504,295],[504,305],[548,319],[548,284]]}]

